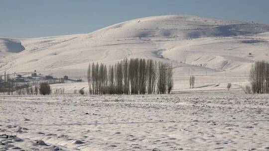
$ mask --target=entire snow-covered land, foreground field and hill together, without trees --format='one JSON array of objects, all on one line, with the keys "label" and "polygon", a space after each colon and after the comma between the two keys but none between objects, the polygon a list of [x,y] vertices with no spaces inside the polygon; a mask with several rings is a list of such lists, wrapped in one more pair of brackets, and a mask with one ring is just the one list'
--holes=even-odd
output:
[{"label": "entire snow-covered land, foreground field and hill together, without trees", "polygon": [[[0,151],[269,151],[269,95],[244,94],[253,63],[269,62],[268,55],[268,24],[190,15],[0,38],[0,75],[36,70],[85,79],[90,62],[124,58],[180,67],[172,95],[74,95],[88,91],[84,81],[52,84],[65,88],[60,96],[0,96]],[[196,75],[193,89],[189,75]]]}]

